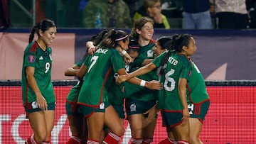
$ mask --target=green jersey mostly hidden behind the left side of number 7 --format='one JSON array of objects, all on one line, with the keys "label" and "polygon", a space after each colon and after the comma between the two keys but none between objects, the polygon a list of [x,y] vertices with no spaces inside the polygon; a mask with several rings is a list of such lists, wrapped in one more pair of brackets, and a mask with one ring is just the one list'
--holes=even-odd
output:
[{"label": "green jersey mostly hidden behind the left side of number 7", "polygon": [[[75,63],[76,66],[81,67],[82,63],[85,61],[85,56],[82,57],[81,60]],[[68,93],[67,101],[68,102],[74,102],[78,99],[78,94],[80,92],[80,89],[82,87],[83,80],[78,81],[78,84],[76,84]]]}]

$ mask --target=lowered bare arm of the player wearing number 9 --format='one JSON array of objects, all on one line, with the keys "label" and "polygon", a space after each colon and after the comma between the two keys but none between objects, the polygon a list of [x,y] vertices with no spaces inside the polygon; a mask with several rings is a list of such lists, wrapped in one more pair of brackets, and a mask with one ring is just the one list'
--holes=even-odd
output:
[{"label": "lowered bare arm of the player wearing number 9", "polygon": [[42,110],[47,110],[46,99],[44,99],[43,95],[38,88],[38,84],[36,83],[36,79],[34,77],[35,67],[26,67],[26,78],[28,80],[28,84],[36,94],[36,101],[38,103],[38,107]]}]

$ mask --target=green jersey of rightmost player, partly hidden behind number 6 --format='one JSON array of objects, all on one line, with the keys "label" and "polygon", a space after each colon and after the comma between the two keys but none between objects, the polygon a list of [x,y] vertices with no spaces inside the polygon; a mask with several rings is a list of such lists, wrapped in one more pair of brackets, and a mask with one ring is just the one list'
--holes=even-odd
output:
[{"label": "green jersey of rightmost player, partly hidden behind number 6", "polygon": [[187,100],[188,104],[198,104],[208,100],[209,96],[206,91],[206,83],[204,82],[200,70],[196,67],[194,62],[192,62],[192,64],[193,70],[188,79]]}]

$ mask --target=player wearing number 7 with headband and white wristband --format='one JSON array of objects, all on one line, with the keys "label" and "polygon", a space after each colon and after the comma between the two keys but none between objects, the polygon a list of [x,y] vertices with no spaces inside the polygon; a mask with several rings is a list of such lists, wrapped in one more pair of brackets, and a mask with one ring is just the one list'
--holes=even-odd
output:
[{"label": "player wearing number 7 with headband and white wristband", "polygon": [[[88,56],[78,72],[78,79],[82,79],[86,73],[78,96],[78,104],[80,111],[87,118],[87,143],[100,143],[104,125],[110,128],[110,133],[103,143],[117,143],[124,133],[119,116],[108,101],[107,91],[114,83],[115,72],[127,74],[121,52],[127,50],[128,44],[127,33],[110,30],[95,51],[95,55]],[[156,81],[145,82],[140,79],[131,79],[130,82],[150,89],[161,88],[161,84]]]}]

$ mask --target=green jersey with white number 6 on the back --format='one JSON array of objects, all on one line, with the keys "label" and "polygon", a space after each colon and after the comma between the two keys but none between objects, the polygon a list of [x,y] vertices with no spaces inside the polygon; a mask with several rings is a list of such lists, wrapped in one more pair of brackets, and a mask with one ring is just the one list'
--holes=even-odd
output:
[{"label": "green jersey with white number 6 on the back", "polygon": [[[161,66],[167,52],[163,52],[153,60],[156,67]],[[172,52],[166,63],[166,68],[160,76],[160,82],[164,89],[159,92],[159,109],[163,111],[181,111],[183,109],[178,96],[178,80],[180,78],[188,79],[190,72],[191,63],[188,59],[184,55]]]}]

